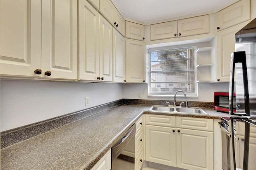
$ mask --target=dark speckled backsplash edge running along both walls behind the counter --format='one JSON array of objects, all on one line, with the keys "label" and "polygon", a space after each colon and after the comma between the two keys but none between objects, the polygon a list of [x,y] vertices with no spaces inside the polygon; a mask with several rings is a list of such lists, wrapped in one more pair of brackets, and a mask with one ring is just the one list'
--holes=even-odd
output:
[{"label": "dark speckled backsplash edge running along both walls behind the counter", "polygon": [[[169,102],[170,102],[170,105],[173,105],[173,101],[169,101]],[[177,105],[180,105],[180,102],[181,101],[177,101]],[[25,125],[23,127],[18,127],[18,128],[3,131],[1,132],[1,139],[0,139],[1,149],[122,104],[167,105],[165,100],[120,99],[110,103],[105,103],[102,105],[84,109],[82,111],[69,113],[59,117],[54,117],[52,119],[47,119],[47,120],[33,123],[30,125]],[[188,106],[213,108],[213,103],[189,101]]]}]

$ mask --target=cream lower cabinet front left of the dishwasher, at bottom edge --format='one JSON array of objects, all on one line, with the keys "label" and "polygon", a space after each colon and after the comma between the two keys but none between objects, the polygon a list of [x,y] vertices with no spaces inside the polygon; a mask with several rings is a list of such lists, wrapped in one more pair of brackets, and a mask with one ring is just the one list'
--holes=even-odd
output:
[{"label": "cream lower cabinet front left of the dishwasher, at bottom edge", "polygon": [[92,167],[91,170],[111,170],[111,149]]}]

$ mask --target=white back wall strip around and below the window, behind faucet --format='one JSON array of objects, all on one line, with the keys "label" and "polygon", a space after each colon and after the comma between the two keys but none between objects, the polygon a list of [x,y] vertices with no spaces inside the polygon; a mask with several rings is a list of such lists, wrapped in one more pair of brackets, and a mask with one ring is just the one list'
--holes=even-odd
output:
[{"label": "white back wall strip around and below the window, behind faucet", "polygon": [[[198,97],[176,97],[176,100],[213,102],[214,91],[228,89],[229,83],[198,83]],[[147,84],[123,84],[122,93],[123,99],[174,100],[174,97],[148,97]],[[138,98],[138,93],[141,93],[141,98]]]}]

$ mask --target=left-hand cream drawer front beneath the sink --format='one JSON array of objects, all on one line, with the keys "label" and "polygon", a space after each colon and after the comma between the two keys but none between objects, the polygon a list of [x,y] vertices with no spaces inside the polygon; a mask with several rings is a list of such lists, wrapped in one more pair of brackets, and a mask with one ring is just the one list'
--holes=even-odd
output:
[{"label": "left-hand cream drawer front beneath the sink", "polygon": [[175,116],[146,115],[146,125],[175,127]]}]

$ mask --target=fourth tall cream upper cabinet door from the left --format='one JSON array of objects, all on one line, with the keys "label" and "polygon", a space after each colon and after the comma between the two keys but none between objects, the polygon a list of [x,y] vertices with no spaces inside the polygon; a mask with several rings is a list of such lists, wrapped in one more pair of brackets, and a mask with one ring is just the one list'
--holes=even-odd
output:
[{"label": "fourth tall cream upper cabinet door from the left", "polygon": [[102,81],[113,81],[112,29],[112,25],[100,16],[100,77]]}]

